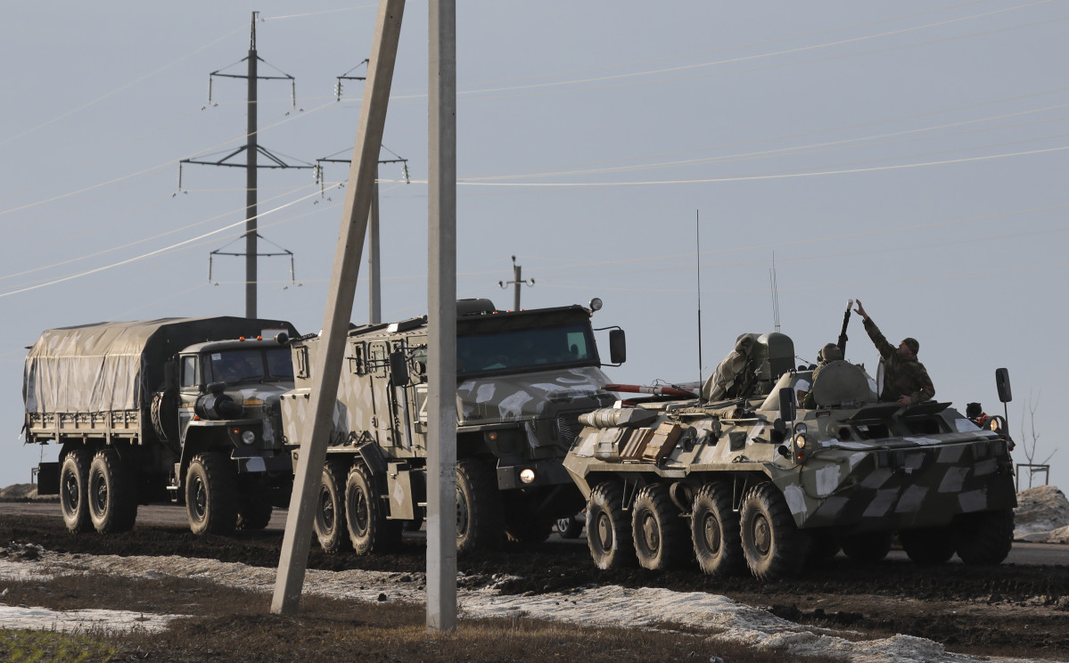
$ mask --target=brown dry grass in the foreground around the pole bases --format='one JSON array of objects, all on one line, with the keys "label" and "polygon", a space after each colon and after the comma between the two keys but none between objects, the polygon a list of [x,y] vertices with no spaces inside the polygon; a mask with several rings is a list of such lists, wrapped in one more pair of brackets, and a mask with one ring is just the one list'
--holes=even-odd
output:
[{"label": "brown dry grass in the foreground around the pole bases", "polygon": [[[719,643],[708,634],[578,626],[517,617],[461,618],[455,633],[429,633],[422,606],[306,597],[296,616],[269,613],[270,597],[206,582],[131,581],[87,574],[6,582],[9,605],[122,607],[188,614],[158,633],[0,631],[3,661],[291,662],[715,661],[773,663],[783,652]],[[822,663],[832,658],[792,660]]]}]

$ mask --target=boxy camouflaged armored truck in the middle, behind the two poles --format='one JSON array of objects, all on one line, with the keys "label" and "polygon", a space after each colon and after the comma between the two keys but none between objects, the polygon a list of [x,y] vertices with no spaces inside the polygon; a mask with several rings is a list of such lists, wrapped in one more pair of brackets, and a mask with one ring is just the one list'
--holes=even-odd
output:
[{"label": "boxy camouflaged armored truck in the middle, behind the two poles", "polygon": [[[583,506],[561,460],[584,412],[615,396],[590,318],[580,305],[498,311],[458,302],[456,547],[493,548],[508,537],[541,541],[557,518]],[[314,521],[323,550],[389,550],[427,506],[427,316],[350,330]],[[624,361],[623,331],[609,332]],[[282,421],[294,457],[311,426],[317,336],[293,344],[296,388]]]}]

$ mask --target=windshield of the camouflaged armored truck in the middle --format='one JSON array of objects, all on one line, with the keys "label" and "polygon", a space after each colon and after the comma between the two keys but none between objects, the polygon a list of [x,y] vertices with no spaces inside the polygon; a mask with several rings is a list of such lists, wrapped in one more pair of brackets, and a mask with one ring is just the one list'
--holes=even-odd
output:
[{"label": "windshield of the camouflaged armored truck in the middle", "polygon": [[456,372],[462,375],[591,363],[599,363],[598,348],[587,325],[512,329],[456,337]]}]

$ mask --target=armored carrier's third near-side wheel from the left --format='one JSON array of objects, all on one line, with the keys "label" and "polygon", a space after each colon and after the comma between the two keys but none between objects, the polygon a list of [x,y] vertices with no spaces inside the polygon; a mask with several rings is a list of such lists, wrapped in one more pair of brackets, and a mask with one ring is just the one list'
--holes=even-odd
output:
[{"label": "armored carrier's third near-side wheel from the left", "polygon": [[731,506],[731,487],[706,484],[694,496],[691,535],[698,566],[710,575],[734,575],[746,568],[739,514]]}]

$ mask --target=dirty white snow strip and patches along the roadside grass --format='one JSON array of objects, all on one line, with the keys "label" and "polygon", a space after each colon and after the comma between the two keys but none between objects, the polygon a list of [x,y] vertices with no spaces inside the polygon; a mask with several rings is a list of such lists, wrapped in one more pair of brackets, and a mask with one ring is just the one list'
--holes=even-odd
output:
[{"label": "dirty white snow strip and patches along the roadside grass", "polygon": [[[162,577],[210,580],[241,589],[272,593],[277,569],[249,567],[243,564],[187,557],[120,557],[115,555],[62,555],[41,551],[37,561],[0,565],[0,582],[4,578],[59,577],[84,571],[122,573],[146,580]],[[477,580],[478,582],[472,582]],[[685,625],[700,629],[713,640],[731,641],[756,647],[784,648],[793,654],[834,653],[859,663],[979,663],[1025,661],[1025,659],[974,658],[947,653],[938,643],[905,635],[852,642],[845,636],[857,636],[851,631],[834,631],[801,626],[780,619],[771,613],[737,603],[723,596],[704,593],[681,593],[642,587],[591,586],[568,594],[537,596],[502,596],[494,587],[503,578],[472,579],[461,577],[459,609],[461,617],[526,616],[580,623],[622,628],[666,628]],[[310,569],[305,579],[305,594],[335,598],[375,601],[423,603],[425,578],[422,573],[389,573],[381,571],[320,571]],[[465,585],[477,585],[467,589]],[[162,623],[121,611],[80,611],[92,613],[74,616],[75,628],[162,628]],[[107,621],[108,614],[114,621]],[[74,613],[67,613],[67,616]],[[41,621],[33,626],[33,619]],[[173,618],[173,617],[172,617]],[[102,620],[103,619],[103,620]],[[66,626],[67,622],[62,622]],[[0,628],[62,628],[56,613],[20,606],[0,610]],[[1036,660],[1028,660],[1037,663]]]}]

